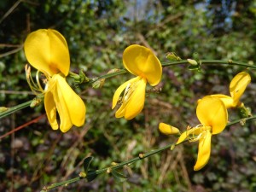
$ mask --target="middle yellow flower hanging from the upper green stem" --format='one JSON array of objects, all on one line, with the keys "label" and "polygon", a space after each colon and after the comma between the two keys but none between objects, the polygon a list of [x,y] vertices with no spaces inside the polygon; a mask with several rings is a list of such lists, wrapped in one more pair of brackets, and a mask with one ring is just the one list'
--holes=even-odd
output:
[{"label": "middle yellow flower hanging from the upper green stem", "polygon": [[113,95],[112,108],[117,105],[119,96],[125,90],[115,117],[125,116],[125,119],[130,120],[143,110],[147,82],[152,86],[160,82],[162,67],[150,49],[137,44],[125,49],[123,63],[125,68],[137,77],[119,86]]}]

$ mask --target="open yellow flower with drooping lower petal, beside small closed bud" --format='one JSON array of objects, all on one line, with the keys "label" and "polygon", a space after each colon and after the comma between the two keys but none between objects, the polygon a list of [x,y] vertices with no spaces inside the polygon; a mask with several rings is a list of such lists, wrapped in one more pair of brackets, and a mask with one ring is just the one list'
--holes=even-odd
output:
[{"label": "open yellow flower with drooping lower petal, beside small closed bud", "polygon": [[212,135],[224,130],[228,122],[228,113],[224,102],[220,99],[205,96],[198,103],[196,115],[201,125],[184,131],[177,140],[177,144],[185,139],[189,139],[189,142],[199,141],[198,157],[194,166],[194,170],[198,171],[207,164],[211,154]]}]

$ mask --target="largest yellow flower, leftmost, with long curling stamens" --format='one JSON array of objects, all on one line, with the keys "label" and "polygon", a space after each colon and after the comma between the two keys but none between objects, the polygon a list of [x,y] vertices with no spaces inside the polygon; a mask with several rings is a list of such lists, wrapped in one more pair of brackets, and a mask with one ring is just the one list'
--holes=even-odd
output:
[{"label": "largest yellow flower, leftmost, with long curling stamens", "polygon": [[36,94],[44,94],[44,107],[52,129],[59,128],[56,113],[60,116],[60,130],[68,131],[73,125],[84,125],[86,108],[82,99],[67,84],[70,58],[66,39],[60,32],[39,29],[30,33],[24,44],[27,61],[44,73],[44,89],[38,79],[32,80],[26,66],[26,79]]}]

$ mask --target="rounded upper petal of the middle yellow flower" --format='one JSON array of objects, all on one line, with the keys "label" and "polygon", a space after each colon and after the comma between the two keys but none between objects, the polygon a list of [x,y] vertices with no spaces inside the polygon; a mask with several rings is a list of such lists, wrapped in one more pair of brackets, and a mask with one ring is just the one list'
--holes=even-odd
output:
[{"label": "rounded upper petal of the middle yellow flower", "polygon": [[124,51],[123,63],[130,73],[147,79],[149,84],[154,86],[160,82],[162,66],[150,49],[138,44],[130,45]]}]

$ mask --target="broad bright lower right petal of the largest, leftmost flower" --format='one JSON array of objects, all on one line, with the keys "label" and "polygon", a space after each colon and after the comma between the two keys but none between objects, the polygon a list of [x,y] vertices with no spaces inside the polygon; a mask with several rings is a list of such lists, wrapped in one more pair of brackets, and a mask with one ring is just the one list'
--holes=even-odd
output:
[{"label": "broad bright lower right petal of the largest, leftmost flower", "polygon": [[[65,105],[65,118],[70,119],[71,123],[76,126],[82,126],[84,125],[85,121],[85,113],[86,108],[84,105],[83,100],[72,90],[72,88],[67,84],[67,81],[65,78],[63,78],[60,74],[56,74],[55,78],[57,79],[58,85],[58,96],[61,102],[61,105]],[[61,116],[61,113],[60,113]],[[68,119],[67,118],[67,119]],[[66,132],[70,129],[69,126],[63,125],[61,127],[61,131]]]}]

